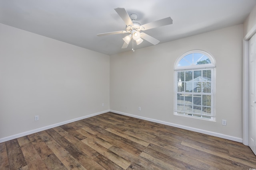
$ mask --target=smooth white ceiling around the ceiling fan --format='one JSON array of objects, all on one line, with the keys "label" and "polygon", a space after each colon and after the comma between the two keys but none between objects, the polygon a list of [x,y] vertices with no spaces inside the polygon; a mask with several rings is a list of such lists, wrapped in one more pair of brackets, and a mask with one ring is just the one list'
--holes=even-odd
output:
[{"label": "smooth white ceiling around the ceiling fan", "polygon": [[[136,13],[141,24],[171,17],[172,25],[144,31],[160,43],[243,23],[256,0],[0,0],[0,23],[107,55],[122,49],[126,34],[114,8]],[[142,31],[141,31],[142,32]],[[152,44],[143,41],[135,50]]]}]

